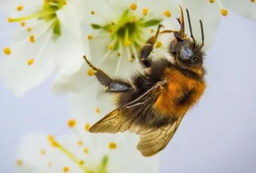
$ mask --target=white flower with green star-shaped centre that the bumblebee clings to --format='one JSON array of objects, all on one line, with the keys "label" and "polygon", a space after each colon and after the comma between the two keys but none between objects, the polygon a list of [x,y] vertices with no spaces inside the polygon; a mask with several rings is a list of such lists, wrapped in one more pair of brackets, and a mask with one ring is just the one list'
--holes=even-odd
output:
[{"label": "white flower with green star-shaped centre that the bumblebee clings to", "polygon": [[[106,70],[111,74],[130,70],[135,65],[129,62],[138,60],[139,47],[155,35],[158,25],[166,18],[175,18],[178,8],[174,4],[166,0],[97,0],[87,4],[91,13],[84,16],[93,28],[88,36],[92,63],[104,68],[115,64]],[[161,42],[155,44],[154,52],[159,48]]]}]

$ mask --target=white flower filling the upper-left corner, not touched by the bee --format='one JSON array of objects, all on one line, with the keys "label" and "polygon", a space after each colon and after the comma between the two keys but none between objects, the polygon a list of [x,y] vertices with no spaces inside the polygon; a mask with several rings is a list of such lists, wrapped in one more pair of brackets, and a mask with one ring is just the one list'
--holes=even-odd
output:
[{"label": "white flower filling the upper-left corner, not touched by the bee", "polygon": [[17,96],[53,72],[70,75],[80,69],[84,47],[76,1],[12,0],[1,4],[11,25],[8,30],[20,28],[2,35],[11,43],[3,48],[0,62],[1,78]]}]

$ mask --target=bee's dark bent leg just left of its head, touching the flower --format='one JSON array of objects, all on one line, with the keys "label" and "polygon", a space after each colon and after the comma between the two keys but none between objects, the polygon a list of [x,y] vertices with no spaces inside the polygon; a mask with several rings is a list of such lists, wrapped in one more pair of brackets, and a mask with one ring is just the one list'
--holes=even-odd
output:
[{"label": "bee's dark bent leg just left of its head, touching the flower", "polygon": [[140,56],[140,62],[146,67],[149,68],[151,63],[148,60],[148,56],[153,51],[154,45],[157,41],[158,35],[160,33],[160,28],[164,27],[163,25],[158,25],[157,32],[154,36],[150,37],[146,44],[140,49],[139,56]]}]

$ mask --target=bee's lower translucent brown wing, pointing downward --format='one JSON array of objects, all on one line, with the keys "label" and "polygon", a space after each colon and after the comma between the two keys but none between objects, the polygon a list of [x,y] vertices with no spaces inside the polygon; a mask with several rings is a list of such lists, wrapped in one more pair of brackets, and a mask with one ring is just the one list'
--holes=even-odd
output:
[{"label": "bee's lower translucent brown wing, pointing downward", "polygon": [[163,150],[173,138],[182,118],[183,116],[165,127],[140,132],[140,141],[137,149],[145,157],[153,156]]}]

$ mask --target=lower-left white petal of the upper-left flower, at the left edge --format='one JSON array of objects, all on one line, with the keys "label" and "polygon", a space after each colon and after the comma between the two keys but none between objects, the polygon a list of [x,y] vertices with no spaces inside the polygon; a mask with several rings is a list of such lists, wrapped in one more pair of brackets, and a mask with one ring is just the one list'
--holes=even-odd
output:
[{"label": "lower-left white petal of the upper-left flower, at the left edge", "polygon": [[[29,40],[29,38],[27,38]],[[54,59],[48,58],[48,36],[40,37],[35,43],[25,43],[16,46],[12,54],[1,58],[1,78],[17,96],[36,87],[46,80],[54,68]],[[14,45],[15,46],[15,45]],[[27,62],[34,59],[32,65]]]}]

